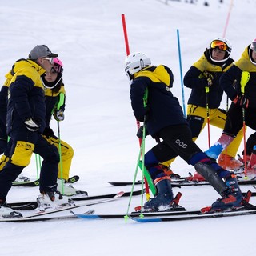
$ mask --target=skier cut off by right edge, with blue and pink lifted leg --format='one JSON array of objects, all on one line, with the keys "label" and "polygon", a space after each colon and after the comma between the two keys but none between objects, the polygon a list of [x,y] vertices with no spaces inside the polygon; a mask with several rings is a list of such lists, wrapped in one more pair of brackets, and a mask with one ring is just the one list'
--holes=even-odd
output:
[{"label": "skier cut off by right edge, with blue and pink lifted leg", "polygon": [[[222,150],[226,149],[239,130],[242,129],[243,123],[251,129],[256,130],[256,39],[246,46],[241,58],[222,75],[220,79],[221,85],[227,96],[232,100],[230,109],[227,113],[226,124],[222,132],[222,136],[206,150],[206,154],[210,158],[218,158]],[[254,157],[254,154],[251,154]],[[250,161],[253,161],[250,160]],[[255,162],[255,160],[254,160]],[[256,176],[254,168],[249,168],[247,172],[251,178]]]}]

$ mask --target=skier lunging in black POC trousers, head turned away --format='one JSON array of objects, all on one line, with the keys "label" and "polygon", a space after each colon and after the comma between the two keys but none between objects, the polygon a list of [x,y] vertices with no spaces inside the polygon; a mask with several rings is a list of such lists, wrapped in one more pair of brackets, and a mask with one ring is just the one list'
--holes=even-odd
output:
[{"label": "skier lunging in black POC trousers, head turned away", "polygon": [[[146,170],[154,181],[157,194],[144,204],[144,208],[158,210],[161,206],[170,206],[174,200],[170,177],[164,173],[159,163],[178,155],[193,165],[222,196],[212,204],[212,210],[241,206],[242,192],[235,175],[211,161],[193,142],[178,98],[170,91],[174,82],[172,71],[163,65],[151,66],[150,58],[142,53],[127,56],[125,65],[135,118],[144,122],[147,133],[153,138],[162,138],[162,142],[145,154]],[[147,106],[144,106],[146,91]]]}]

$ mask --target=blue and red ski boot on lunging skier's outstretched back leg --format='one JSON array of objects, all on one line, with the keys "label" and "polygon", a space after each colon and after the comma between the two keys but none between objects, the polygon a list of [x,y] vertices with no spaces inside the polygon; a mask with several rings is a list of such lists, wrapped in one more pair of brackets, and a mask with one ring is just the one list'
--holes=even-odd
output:
[{"label": "blue and red ski boot on lunging skier's outstretched back leg", "polygon": [[234,174],[230,174],[226,178],[227,190],[224,191],[223,197],[219,198],[211,206],[213,211],[225,211],[225,210],[234,210],[242,206],[243,197],[242,192],[238,186],[238,180]]}]

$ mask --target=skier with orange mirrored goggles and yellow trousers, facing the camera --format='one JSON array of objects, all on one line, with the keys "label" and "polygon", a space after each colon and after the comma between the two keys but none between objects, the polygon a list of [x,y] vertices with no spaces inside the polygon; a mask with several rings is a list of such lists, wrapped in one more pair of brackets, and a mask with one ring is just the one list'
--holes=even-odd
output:
[{"label": "skier with orange mirrored goggles and yellow trousers, facing the camera", "polygon": [[[184,85],[192,89],[188,99],[186,119],[190,124],[194,141],[208,120],[210,125],[222,128],[222,130],[225,126],[226,111],[219,108],[223,95],[219,79],[234,62],[234,59],[230,58],[231,50],[232,46],[228,39],[215,38],[210,42],[210,47],[206,48],[202,57],[194,62],[184,76]],[[243,165],[235,159],[242,136],[241,129],[230,146],[227,146],[226,150],[220,154],[219,166],[227,170],[237,170]],[[173,160],[164,164],[170,166]],[[202,176],[200,177],[197,173],[193,178],[202,180]]]}]

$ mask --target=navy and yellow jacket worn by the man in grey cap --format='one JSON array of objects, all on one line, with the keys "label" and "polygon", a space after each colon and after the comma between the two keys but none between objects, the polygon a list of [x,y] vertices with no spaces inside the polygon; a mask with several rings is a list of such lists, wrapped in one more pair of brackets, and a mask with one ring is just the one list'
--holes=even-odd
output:
[{"label": "navy and yellow jacket worn by the man in grey cap", "polygon": [[46,106],[41,75],[46,70],[30,59],[21,59],[14,63],[10,75],[7,134],[12,130],[26,130],[24,122],[33,118],[40,126],[38,132],[45,129]]}]

